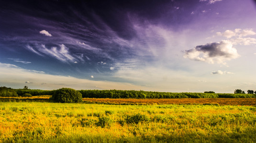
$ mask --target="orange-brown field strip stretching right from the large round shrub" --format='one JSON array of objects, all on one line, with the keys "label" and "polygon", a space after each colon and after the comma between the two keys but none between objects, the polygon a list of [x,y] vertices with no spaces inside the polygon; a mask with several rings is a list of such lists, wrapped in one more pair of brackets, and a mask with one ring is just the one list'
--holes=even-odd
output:
[{"label": "orange-brown field strip stretching right from the large round shrub", "polygon": [[83,98],[83,101],[112,104],[220,104],[256,105],[256,98],[109,99]]}]

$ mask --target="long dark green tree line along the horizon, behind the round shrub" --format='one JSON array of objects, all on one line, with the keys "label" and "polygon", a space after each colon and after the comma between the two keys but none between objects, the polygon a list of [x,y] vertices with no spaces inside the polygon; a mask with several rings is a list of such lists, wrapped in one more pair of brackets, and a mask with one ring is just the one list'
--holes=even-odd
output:
[{"label": "long dark green tree line along the horizon, behind the round shrub", "polygon": [[[56,90],[32,90],[32,89],[11,89],[0,87],[2,97],[29,97],[38,95],[53,95]],[[215,92],[148,92],[148,91],[125,91],[125,90],[78,90],[82,98],[137,98],[137,99],[156,99],[156,98],[256,98],[256,92],[248,90],[245,94],[242,90],[235,90],[234,93],[215,93]],[[29,95],[30,94],[30,95]]]}]

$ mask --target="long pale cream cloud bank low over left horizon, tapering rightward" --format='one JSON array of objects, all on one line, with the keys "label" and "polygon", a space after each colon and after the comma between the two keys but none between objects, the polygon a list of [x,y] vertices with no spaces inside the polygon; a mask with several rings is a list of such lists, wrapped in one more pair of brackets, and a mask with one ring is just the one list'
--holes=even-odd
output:
[{"label": "long pale cream cloud bank low over left horizon, tapering rightward", "polygon": [[[30,82],[31,89],[54,90],[63,87],[81,89],[99,89],[99,90],[149,90],[142,86],[133,85],[126,82],[107,82],[107,81],[91,81],[87,79],[78,79],[74,77],[50,75],[39,72],[31,72],[12,64],[0,62],[0,81],[3,85],[12,88],[24,87],[24,81]],[[47,84],[46,84],[47,83]]]}]

